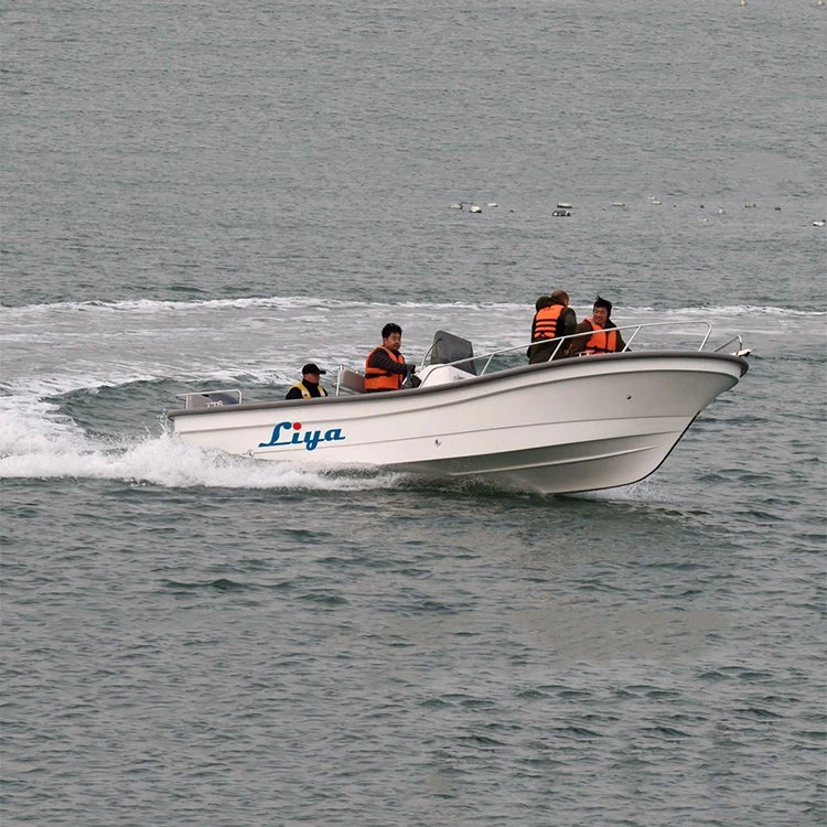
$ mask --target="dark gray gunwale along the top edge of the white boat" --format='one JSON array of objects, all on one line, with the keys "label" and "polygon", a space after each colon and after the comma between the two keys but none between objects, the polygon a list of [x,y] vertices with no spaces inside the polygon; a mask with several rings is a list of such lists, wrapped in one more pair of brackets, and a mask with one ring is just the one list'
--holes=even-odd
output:
[{"label": "dark gray gunwale along the top edge of the white boat", "polygon": [[[534,365],[519,365],[517,367],[508,367],[504,370],[497,370],[496,373],[483,374],[482,376],[469,376],[466,379],[458,382],[443,383],[434,385],[432,387],[418,387],[418,388],[405,388],[404,396],[409,399],[411,396],[420,396],[422,394],[438,394],[445,393],[448,390],[455,390],[458,387],[477,386],[482,383],[500,382],[512,376],[518,376],[538,370],[552,370],[556,368],[571,367],[577,364],[589,364],[593,365],[597,361],[623,361],[623,362],[635,362],[635,361],[647,361],[653,358],[681,358],[681,359],[712,359],[712,361],[724,361],[734,362],[741,367],[740,376],[743,376],[749,370],[749,363],[742,356],[735,356],[731,353],[718,353],[715,351],[636,351],[636,352],[623,352],[623,353],[604,353],[594,354],[588,357],[579,356],[567,356],[561,359],[555,359],[554,362],[540,362]],[[740,377],[739,377],[740,378]],[[197,391],[194,391],[197,393]],[[205,391],[206,393],[206,391]],[[290,408],[296,406],[307,405],[342,405],[353,402],[365,402],[365,401],[377,401],[380,399],[393,399],[398,398],[399,390],[386,390],[373,394],[354,394],[354,395],[341,395],[341,396],[325,396],[314,397],[312,399],[271,399],[260,401],[240,402],[238,405],[216,406],[211,408],[174,408],[165,411],[168,419],[176,419],[179,417],[190,416],[205,416],[215,414],[230,414],[241,412],[249,410],[265,410],[269,408]]]}]

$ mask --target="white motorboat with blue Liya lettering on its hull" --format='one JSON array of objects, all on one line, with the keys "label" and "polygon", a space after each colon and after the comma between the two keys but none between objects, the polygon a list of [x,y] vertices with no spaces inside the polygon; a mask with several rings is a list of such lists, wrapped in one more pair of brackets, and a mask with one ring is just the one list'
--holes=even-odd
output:
[{"label": "white motorboat with blue Liya lettering on its hull", "polygon": [[[373,466],[544,494],[627,485],[657,470],[749,367],[739,335],[712,348],[712,325],[694,322],[700,332],[686,344],[670,336],[676,324],[619,327],[623,352],[557,358],[576,337],[566,336],[539,364],[526,364],[526,344],[475,356],[470,341],[438,331],[417,387],[365,394],[364,376],[340,365],[329,397],[247,401],[238,388],[198,390],[167,416],[186,444],[301,466]],[[652,336],[667,346],[647,346]]]}]

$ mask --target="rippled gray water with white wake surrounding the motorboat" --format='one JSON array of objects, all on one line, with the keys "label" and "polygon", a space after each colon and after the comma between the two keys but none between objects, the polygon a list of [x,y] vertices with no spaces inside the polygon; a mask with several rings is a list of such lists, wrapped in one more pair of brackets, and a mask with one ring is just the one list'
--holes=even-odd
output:
[{"label": "rippled gray water with white wake surrounding the motorboat", "polygon": [[[827,8],[0,8],[4,825],[825,821]],[[753,347],[642,483],[165,426],[555,287]]]}]

